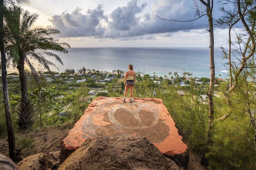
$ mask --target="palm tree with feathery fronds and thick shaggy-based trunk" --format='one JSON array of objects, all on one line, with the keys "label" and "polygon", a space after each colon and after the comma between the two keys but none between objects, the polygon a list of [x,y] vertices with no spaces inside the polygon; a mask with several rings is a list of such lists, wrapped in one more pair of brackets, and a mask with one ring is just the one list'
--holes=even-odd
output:
[{"label": "palm tree with feathery fronds and thick shaggy-based trunk", "polygon": [[[25,72],[25,63],[28,64],[31,72],[38,80],[37,71],[30,63],[30,59],[41,63],[44,68],[50,70],[50,65],[55,66],[44,56],[53,56],[63,64],[60,57],[47,50],[61,53],[68,53],[62,46],[69,47],[67,43],[58,43],[51,35],[60,33],[54,28],[31,28],[38,15],[30,14],[28,11],[21,12],[19,7],[8,8],[9,15],[5,17],[6,22],[6,51],[9,53],[8,60],[19,70],[21,104],[18,113],[18,125],[20,128],[27,128],[33,124],[33,109],[28,101],[28,87]],[[55,66],[56,67],[56,66]]]}]

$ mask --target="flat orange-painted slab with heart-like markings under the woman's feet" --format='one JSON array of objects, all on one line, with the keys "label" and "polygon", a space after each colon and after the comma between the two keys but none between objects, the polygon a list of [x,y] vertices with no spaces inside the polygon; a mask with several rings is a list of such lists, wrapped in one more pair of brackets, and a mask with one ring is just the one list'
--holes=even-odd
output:
[{"label": "flat orange-painted slab with heart-like markings under the woman's feet", "polygon": [[89,137],[142,136],[166,157],[182,167],[188,165],[188,147],[161,99],[134,98],[132,103],[117,97],[98,97],[62,141],[60,161]]}]

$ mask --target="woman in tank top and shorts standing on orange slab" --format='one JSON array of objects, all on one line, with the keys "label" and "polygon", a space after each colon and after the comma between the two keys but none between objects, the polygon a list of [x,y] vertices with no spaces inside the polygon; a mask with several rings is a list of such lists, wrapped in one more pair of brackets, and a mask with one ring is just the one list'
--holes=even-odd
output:
[{"label": "woman in tank top and shorts standing on orange slab", "polygon": [[135,73],[135,71],[133,71],[132,64],[129,64],[128,69],[129,70],[125,72],[125,78],[124,78],[125,92],[124,92],[123,101],[125,101],[128,89],[130,87],[130,102],[132,102],[133,101],[132,92],[133,92],[133,87],[135,84],[136,73]]}]

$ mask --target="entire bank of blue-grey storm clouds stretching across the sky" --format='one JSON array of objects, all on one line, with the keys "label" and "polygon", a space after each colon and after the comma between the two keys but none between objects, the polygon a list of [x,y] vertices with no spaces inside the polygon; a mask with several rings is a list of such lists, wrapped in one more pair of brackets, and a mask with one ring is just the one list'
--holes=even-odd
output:
[{"label": "entire bank of blue-grey storm clouds stretching across the sky", "polygon": [[[72,13],[63,12],[50,19],[52,25],[62,32],[63,37],[90,37],[113,38],[129,40],[124,37],[141,39],[154,39],[150,34],[173,33],[193,29],[207,28],[207,17],[192,22],[165,21],[156,17],[156,14],[166,19],[191,20],[195,18],[193,1],[188,0],[158,0],[151,4],[152,11],[144,12],[147,3],[138,5],[137,0],[131,0],[126,6],[117,7],[108,17],[104,15],[102,6],[88,10],[82,14],[76,8]],[[102,27],[100,20],[106,20],[106,28]],[[164,35],[164,34],[162,34]],[[134,38],[132,38],[134,39]]]}]

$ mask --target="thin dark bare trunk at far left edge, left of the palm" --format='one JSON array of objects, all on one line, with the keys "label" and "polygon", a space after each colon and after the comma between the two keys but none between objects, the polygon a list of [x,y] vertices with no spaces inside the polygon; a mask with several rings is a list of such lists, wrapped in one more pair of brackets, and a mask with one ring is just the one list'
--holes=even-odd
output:
[{"label": "thin dark bare trunk at far left edge, left of the palm", "polygon": [[0,0],[0,48],[1,48],[1,74],[3,82],[3,93],[4,93],[4,109],[7,125],[8,134],[8,146],[9,146],[9,157],[11,159],[16,158],[16,147],[15,147],[15,136],[13,132],[12,125],[12,115],[11,108],[9,104],[9,94],[8,94],[8,82],[7,82],[7,71],[6,71],[6,56],[4,47],[4,1]]}]

